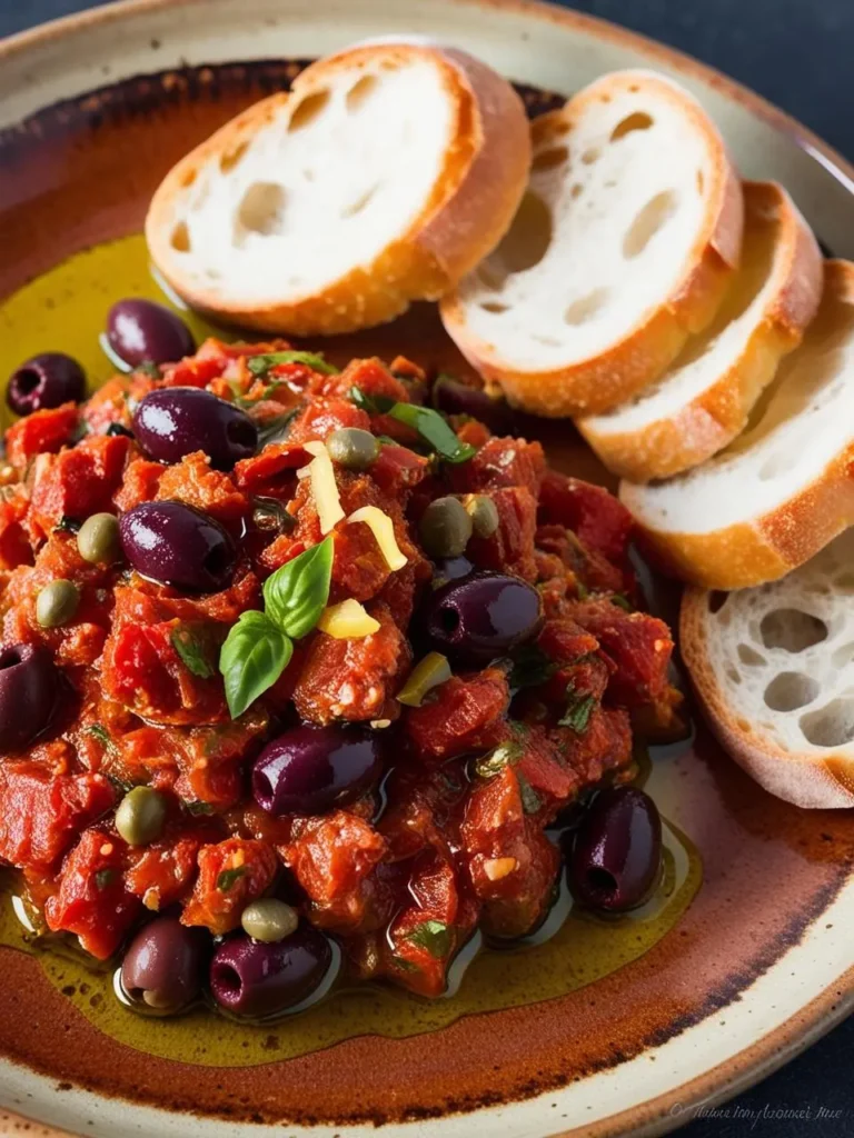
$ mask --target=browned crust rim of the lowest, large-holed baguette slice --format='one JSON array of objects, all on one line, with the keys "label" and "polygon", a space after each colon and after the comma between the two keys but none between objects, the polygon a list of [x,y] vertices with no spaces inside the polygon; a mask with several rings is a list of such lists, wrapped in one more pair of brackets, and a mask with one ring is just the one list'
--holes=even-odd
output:
[{"label": "browned crust rim of the lowest, large-holed baguette slice", "polygon": [[770,793],[813,809],[854,807],[854,758],[791,754],[761,731],[733,716],[712,666],[707,644],[709,594],[687,588],[680,613],[680,649],[712,728],[730,756]]}]

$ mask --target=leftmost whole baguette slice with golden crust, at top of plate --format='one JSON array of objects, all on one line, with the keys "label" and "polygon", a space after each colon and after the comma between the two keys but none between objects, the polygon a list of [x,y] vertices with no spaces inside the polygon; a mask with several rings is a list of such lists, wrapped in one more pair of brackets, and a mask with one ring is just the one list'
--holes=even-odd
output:
[{"label": "leftmost whole baguette slice with golden crust, at top of plate", "polygon": [[187,155],[146,236],[196,308],[264,331],[352,331],[436,299],[485,256],[529,159],[522,100],[485,64],[362,44]]}]

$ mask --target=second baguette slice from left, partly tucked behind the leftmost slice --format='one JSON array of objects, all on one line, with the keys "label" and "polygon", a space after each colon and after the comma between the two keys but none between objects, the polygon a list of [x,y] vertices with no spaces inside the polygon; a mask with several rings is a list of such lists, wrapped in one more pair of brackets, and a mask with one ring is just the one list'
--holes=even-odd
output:
[{"label": "second baguette slice from left, partly tucked behind the leftmost slice", "polygon": [[652,72],[602,76],[532,138],[514,225],[442,319],[516,406],[599,413],[714,316],[739,259],[741,185],[701,107]]}]

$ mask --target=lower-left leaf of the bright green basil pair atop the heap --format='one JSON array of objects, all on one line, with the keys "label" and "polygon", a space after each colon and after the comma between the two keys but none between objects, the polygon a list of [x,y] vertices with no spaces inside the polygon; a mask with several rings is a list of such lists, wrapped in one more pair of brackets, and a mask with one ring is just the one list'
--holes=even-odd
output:
[{"label": "lower-left leaf of the bright green basil pair atop the heap", "polygon": [[220,652],[231,718],[271,687],[287,668],[294,645],[263,612],[244,612]]}]

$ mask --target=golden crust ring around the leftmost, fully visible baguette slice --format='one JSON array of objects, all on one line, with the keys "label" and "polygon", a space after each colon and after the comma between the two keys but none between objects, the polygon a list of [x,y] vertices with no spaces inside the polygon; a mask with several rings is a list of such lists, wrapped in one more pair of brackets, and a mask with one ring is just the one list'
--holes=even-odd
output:
[{"label": "golden crust ring around the leftmost, fully visible baguette slice", "polygon": [[[339,72],[355,75],[377,61],[404,67],[417,58],[427,58],[441,74],[453,106],[453,132],[433,192],[407,232],[321,294],[271,297],[263,305],[205,289],[182,271],[171,250],[172,203],[199,166],[212,156],[239,152],[258,127],[323,90]],[[178,163],[154,196],[146,237],[161,273],[195,308],[270,332],[350,332],[393,320],[412,300],[437,299],[486,256],[512,221],[529,165],[524,105],[512,86],[485,64],[457,49],[366,44],[312,64],[296,77],[290,93],[251,107]]]}]

